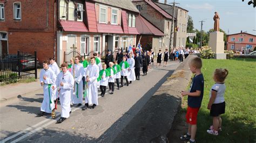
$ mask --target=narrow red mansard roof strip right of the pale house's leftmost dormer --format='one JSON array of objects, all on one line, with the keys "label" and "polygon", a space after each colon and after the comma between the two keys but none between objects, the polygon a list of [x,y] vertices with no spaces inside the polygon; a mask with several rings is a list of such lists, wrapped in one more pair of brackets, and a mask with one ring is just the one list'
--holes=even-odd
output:
[{"label": "narrow red mansard roof strip right of the pale house's leftmost dormer", "polygon": [[90,2],[85,2],[85,4],[86,4],[86,15],[87,15],[89,31],[90,32],[98,32],[97,31],[95,4],[90,3]]}]

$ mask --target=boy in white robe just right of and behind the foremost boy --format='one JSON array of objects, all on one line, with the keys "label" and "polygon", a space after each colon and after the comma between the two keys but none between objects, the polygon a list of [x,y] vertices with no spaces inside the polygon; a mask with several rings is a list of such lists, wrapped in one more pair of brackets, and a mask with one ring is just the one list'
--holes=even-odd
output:
[{"label": "boy in white robe just right of and behind the foremost boy", "polygon": [[75,68],[73,68],[73,65],[71,67],[71,74],[75,75],[75,77],[74,77],[75,92],[73,92],[73,90],[71,91],[71,94],[73,92],[73,95],[71,95],[71,102],[73,104],[78,104],[78,106],[80,106],[80,104],[83,103],[83,81],[82,81],[82,78],[84,76],[84,67],[83,67],[82,63],[79,63],[79,61],[80,61],[80,56],[76,56]]}]

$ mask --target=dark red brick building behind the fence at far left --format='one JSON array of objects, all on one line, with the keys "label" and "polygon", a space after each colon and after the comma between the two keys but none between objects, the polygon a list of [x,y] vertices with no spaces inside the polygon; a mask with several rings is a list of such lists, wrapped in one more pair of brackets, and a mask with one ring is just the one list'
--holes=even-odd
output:
[{"label": "dark red brick building behind the fence at far left", "polygon": [[37,51],[39,61],[55,55],[55,2],[0,0],[0,54]]}]

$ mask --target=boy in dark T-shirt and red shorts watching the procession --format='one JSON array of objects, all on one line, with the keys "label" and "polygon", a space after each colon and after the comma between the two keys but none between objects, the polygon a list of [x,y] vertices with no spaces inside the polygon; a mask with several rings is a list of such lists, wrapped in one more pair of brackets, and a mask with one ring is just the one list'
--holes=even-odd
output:
[{"label": "boy in dark T-shirt and red shorts watching the procession", "polygon": [[186,121],[188,123],[188,132],[180,137],[181,140],[196,142],[197,132],[197,114],[200,109],[204,94],[204,76],[201,73],[202,61],[200,58],[194,58],[189,63],[190,70],[194,75],[190,91],[182,91],[181,95],[187,98]]}]

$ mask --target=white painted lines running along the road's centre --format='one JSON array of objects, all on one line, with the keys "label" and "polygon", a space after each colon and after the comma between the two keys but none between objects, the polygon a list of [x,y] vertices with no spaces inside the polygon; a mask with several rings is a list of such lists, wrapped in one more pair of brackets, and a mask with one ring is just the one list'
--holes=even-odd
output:
[{"label": "white painted lines running along the road's centre", "polygon": [[[167,66],[175,65],[175,64],[177,64],[177,63],[170,63],[170,64],[167,64]],[[149,70],[147,73],[151,73],[152,71],[157,70],[157,69],[159,69],[159,68],[157,68],[157,67],[151,68],[151,70]],[[108,95],[108,94],[109,94],[109,93],[106,93],[106,95]],[[99,96],[99,95],[98,95],[98,98],[102,98],[102,96]],[[81,106],[76,107],[75,109],[73,109],[73,110],[71,110],[71,111],[72,111],[72,112],[75,112],[76,110],[82,109],[83,107],[84,107],[84,105],[81,105]],[[61,112],[57,113],[57,114],[56,114],[56,117],[59,116],[60,114],[61,114]],[[57,119],[59,119],[59,118],[60,118],[60,117],[58,117]],[[51,120],[49,123],[44,124],[44,125],[42,125],[42,126],[36,128],[35,130],[32,130],[33,128],[35,128],[35,127],[37,127],[37,126],[39,126],[39,125],[41,125],[41,124],[43,124],[43,123],[45,123],[46,121],[49,121],[49,120]],[[36,133],[37,131],[41,130],[42,128],[53,124],[54,122],[56,122],[56,120],[52,120],[52,118],[49,117],[49,118],[47,118],[47,119],[45,119],[45,120],[43,120],[43,121],[37,123],[36,125],[33,125],[33,126],[31,126],[31,127],[28,127],[28,128],[26,128],[25,130],[23,130],[23,131],[21,131],[21,132],[18,132],[18,133],[14,134],[14,135],[11,135],[11,136],[8,137],[8,138],[5,138],[5,139],[2,140],[1,142],[6,142],[6,141],[8,141],[8,140],[11,140],[11,139],[17,137],[17,136],[20,135],[20,134],[25,133],[24,135],[22,135],[21,137],[17,138],[16,140],[11,141],[11,142],[18,142],[18,141],[20,141],[20,140],[22,140],[22,139],[28,137],[29,135],[31,135],[31,134],[33,134],[33,133]],[[30,130],[32,130],[32,131],[30,131]]]}]

